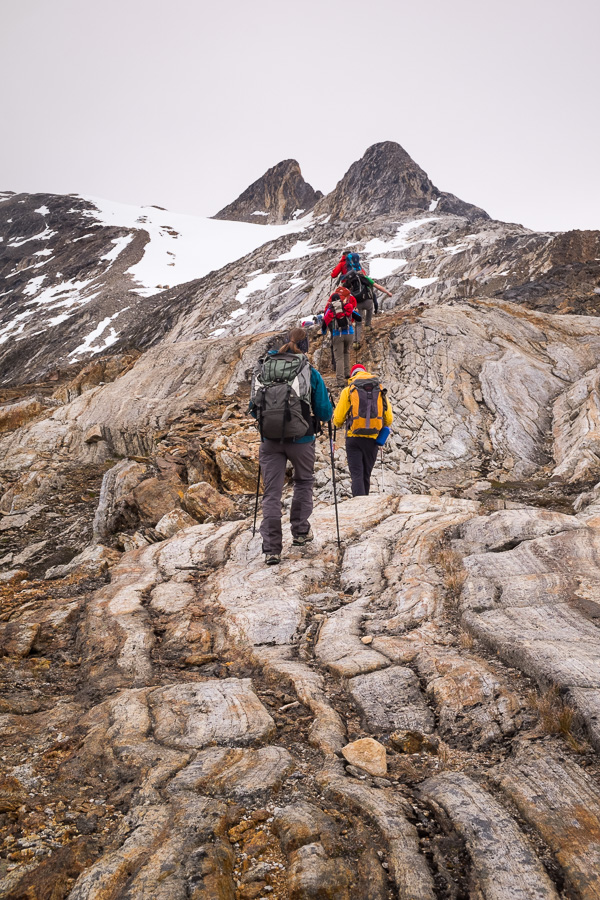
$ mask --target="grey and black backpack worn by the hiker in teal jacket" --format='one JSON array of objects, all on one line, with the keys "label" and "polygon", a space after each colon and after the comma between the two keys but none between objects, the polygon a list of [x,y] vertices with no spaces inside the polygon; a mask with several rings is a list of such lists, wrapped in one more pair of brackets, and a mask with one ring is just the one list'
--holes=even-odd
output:
[{"label": "grey and black backpack worn by the hiker in teal jacket", "polygon": [[254,370],[250,400],[262,439],[283,441],[315,433],[310,363],[303,353],[269,353]]}]

